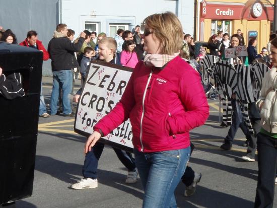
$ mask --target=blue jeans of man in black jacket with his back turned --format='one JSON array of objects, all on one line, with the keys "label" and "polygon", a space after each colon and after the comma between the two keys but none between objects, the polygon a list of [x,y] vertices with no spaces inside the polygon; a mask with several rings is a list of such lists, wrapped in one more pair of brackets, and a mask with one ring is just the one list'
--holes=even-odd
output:
[{"label": "blue jeans of man in black jacket with his back turned", "polygon": [[63,114],[72,113],[70,98],[68,97],[72,90],[72,79],[71,70],[53,71],[53,88],[50,103],[51,115],[55,115],[57,113],[59,87],[62,90]]}]

